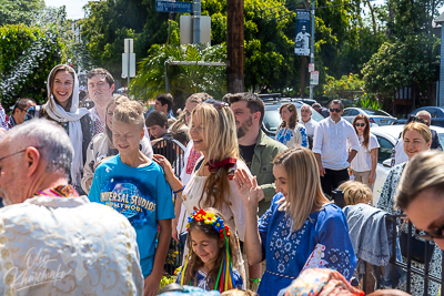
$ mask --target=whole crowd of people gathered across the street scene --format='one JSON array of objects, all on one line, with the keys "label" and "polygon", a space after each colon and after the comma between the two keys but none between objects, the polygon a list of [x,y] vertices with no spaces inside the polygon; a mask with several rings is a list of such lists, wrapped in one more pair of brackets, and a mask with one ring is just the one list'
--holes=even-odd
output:
[{"label": "whole crowd of people gathered across the street scene", "polygon": [[[364,295],[360,264],[387,265],[390,243],[363,221],[401,213],[436,242],[426,265],[441,276],[444,154],[430,151],[430,118],[404,127],[396,155],[407,159],[374,207],[379,143],[365,115],[341,118],[340,100],[303,105],[301,118],[282,105],[273,140],[253,93],[194,93],[175,119],[171,94],[147,112],[113,95],[107,70],[87,78],[91,109],[63,64],[49,74],[44,104],[21,98],[9,120],[0,108],[1,295],[158,295],[171,239],[184,256],[164,295]],[[316,108],[329,113],[321,122]],[[337,188],[344,208],[332,202]],[[363,249],[372,236],[380,244]],[[420,277],[412,285],[424,293]]]}]

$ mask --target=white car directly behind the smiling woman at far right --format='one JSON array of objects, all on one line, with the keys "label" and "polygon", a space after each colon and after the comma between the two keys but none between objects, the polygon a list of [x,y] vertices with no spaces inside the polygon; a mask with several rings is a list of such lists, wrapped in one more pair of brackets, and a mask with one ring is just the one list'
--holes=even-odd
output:
[{"label": "white car directly behind the smiling woman at far right", "polygon": [[[436,131],[441,145],[444,146],[444,127],[432,125],[431,129]],[[391,169],[391,155],[393,146],[400,139],[403,130],[404,125],[375,126],[370,130],[376,136],[377,142],[380,143],[380,150],[377,152],[376,180],[373,187],[374,206],[376,206],[377,201],[380,200],[382,187],[384,186],[384,182],[387,178],[387,174]]]}]

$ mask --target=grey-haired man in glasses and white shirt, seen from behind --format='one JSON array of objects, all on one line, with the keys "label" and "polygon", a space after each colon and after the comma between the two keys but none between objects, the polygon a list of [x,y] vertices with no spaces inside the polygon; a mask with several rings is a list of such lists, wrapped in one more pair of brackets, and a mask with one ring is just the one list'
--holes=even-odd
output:
[{"label": "grey-haired man in glasses and white shirt, seen from behind", "polygon": [[73,152],[47,120],[0,140],[0,295],[142,295],[134,228],[68,185]]}]

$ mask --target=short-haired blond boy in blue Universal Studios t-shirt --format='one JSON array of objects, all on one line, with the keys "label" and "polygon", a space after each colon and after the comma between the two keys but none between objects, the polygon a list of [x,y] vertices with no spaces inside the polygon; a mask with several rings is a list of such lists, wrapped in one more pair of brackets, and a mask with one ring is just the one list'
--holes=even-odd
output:
[{"label": "short-haired blond boy in blue Universal Studios t-shirt", "polygon": [[115,108],[112,139],[119,154],[97,167],[88,197],[115,208],[131,222],[144,277],[143,295],[157,295],[171,239],[174,205],[162,169],[139,150],[143,123],[143,108],[139,103],[130,101]]}]

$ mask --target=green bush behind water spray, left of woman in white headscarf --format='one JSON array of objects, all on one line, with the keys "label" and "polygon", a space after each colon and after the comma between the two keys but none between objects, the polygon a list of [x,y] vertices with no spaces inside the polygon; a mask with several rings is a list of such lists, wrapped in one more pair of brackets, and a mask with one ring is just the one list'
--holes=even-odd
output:
[{"label": "green bush behind water spray, left of woman in white headscarf", "polygon": [[47,79],[61,62],[56,29],[24,24],[0,28],[0,102],[12,105],[20,96],[46,101]]}]

